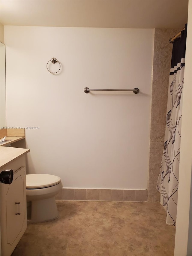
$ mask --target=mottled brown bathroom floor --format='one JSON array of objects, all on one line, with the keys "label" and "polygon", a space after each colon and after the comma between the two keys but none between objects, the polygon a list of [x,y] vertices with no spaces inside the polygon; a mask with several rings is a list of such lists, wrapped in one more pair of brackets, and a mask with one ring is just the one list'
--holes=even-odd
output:
[{"label": "mottled brown bathroom floor", "polygon": [[60,217],[28,224],[12,256],[171,256],[175,227],[160,203],[57,201]]}]

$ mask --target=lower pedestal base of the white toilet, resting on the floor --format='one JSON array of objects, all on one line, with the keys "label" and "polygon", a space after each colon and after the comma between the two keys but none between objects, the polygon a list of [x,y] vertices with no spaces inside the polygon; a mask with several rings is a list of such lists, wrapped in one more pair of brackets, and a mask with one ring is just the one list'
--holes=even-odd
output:
[{"label": "lower pedestal base of the white toilet, resting on the floor", "polygon": [[59,217],[55,196],[31,202],[31,218],[27,223],[54,220]]}]

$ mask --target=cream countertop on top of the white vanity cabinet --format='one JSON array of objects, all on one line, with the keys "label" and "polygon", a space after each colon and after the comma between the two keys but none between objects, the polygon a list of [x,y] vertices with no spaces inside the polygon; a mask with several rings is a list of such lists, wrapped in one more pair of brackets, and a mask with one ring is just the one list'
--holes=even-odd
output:
[{"label": "cream countertop on top of the white vanity cabinet", "polygon": [[16,158],[28,153],[30,149],[20,149],[0,146],[0,168],[14,161]]}]

